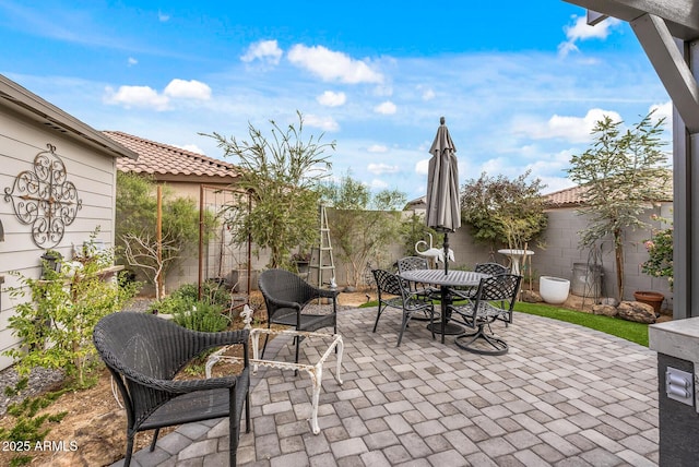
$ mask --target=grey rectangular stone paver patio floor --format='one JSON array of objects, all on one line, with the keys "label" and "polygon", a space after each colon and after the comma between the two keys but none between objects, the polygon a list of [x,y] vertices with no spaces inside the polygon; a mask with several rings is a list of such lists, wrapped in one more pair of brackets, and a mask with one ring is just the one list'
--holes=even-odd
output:
[{"label": "grey rectangular stone paver patio floor", "polygon": [[[508,327],[494,325],[510,345],[503,356],[462,351],[451,336],[442,345],[422,322],[411,322],[396,348],[400,313],[384,313],[376,334],[375,319],[375,308],[340,312],[344,384],[333,379],[331,356],[317,435],[306,373],[261,369],[253,376],[252,429],[241,433],[238,465],[657,464],[654,351],[520,313]],[[266,351],[293,359],[294,347],[275,338]],[[155,452],[135,453],[132,465],[225,465],[227,427],[225,420],[182,426]]]}]

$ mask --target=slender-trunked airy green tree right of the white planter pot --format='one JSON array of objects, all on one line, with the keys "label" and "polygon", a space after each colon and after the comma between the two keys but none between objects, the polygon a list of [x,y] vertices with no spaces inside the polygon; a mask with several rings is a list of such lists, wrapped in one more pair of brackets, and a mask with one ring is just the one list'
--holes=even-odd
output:
[{"label": "slender-trunked airy green tree right of the white planter pot", "polygon": [[667,197],[671,173],[665,142],[664,119],[652,122],[652,113],[626,131],[623,121],[604,116],[592,130],[590,148],[570,159],[570,179],[581,185],[583,207],[589,227],[580,232],[581,248],[594,248],[612,239],[616,264],[618,298],[624,298],[624,231],[644,229],[644,211],[653,202]]}]

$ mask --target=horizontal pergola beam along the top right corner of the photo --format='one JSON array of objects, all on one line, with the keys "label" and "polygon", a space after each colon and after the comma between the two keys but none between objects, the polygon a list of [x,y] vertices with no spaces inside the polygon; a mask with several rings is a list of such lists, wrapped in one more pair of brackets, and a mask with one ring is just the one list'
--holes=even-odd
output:
[{"label": "horizontal pergola beam along the top right corner of the photo", "polygon": [[632,22],[650,13],[667,23],[673,37],[699,38],[699,2],[696,0],[565,0],[599,14]]}]

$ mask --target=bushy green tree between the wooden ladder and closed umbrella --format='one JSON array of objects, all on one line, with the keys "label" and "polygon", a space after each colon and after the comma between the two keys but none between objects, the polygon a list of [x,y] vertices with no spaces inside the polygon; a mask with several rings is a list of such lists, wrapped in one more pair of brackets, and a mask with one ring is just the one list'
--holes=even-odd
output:
[{"label": "bushy green tree between the wooden ladder and closed umbrella", "polygon": [[401,231],[400,206],[405,195],[396,190],[372,194],[367,185],[347,172],[340,182],[322,187],[323,202],[332,209],[330,229],[333,247],[347,265],[347,278],[358,287],[369,261],[378,266],[387,259],[386,249]]}]

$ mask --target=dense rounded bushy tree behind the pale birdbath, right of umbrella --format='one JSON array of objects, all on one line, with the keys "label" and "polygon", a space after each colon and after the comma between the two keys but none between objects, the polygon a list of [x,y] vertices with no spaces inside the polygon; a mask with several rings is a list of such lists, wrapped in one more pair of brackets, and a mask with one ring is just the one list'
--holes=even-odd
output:
[{"label": "dense rounded bushy tree behind the pale birdbath, right of umbrella", "polygon": [[546,228],[540,179],[528,181],[531,170],[513,180],[500,175],[469,180],[461,189],[461,217],[476,240],[493,247],[521,249]]}]

